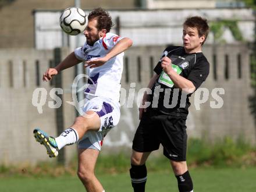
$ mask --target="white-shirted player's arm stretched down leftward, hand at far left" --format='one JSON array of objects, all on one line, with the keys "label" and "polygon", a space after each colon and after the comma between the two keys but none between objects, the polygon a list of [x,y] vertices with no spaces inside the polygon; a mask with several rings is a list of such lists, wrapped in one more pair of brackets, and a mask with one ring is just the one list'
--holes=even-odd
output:
[{"label": "white-shirted player's arm stretched down leftward, hand at far left", "polygon": [[74,52],[72,52],[61,63],[59,63],[59,65],[57,65],[55,68],[47,69],[46,72],[44,73],[44,75],[42,76],[42,80],[43,81],[52,80],[52,77],[55,76],[56,74],[58,74],[58,72],[60,72],[61,70],[64,70],[64,69],[67,69],[74,65],[77,65],[80,62],[82,62],[82,61],[77,59],[76,56],[74,55]]}]

